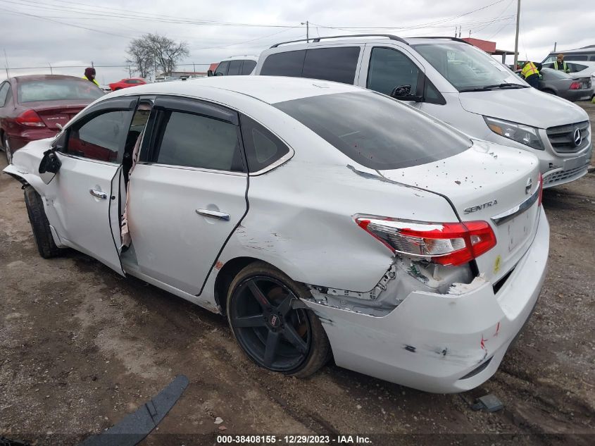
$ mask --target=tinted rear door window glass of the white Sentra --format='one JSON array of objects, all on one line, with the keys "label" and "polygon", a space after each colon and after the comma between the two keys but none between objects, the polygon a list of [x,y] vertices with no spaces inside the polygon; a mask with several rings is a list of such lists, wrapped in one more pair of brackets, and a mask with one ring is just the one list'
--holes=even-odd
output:
[{"label": "tinted rear door window glass of the white Sentra", "polygon": [[207,116],[163,111],[154,161],[170,166],[242,172],[237,126]]}]

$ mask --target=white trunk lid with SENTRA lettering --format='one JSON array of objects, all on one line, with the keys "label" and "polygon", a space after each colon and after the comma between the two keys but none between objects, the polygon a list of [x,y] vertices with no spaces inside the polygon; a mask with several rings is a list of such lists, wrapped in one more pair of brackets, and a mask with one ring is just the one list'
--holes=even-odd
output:
[{"label": "white trunk lid with SENTRA lettering", "polygon": [[492,282],[511,271],[537,232],[539,161],[527,151],[473,140],[473,146],[461,154],[380,173],[443,195],[463,222],[487,221],[496,246],[476,261],[480,273]]}]

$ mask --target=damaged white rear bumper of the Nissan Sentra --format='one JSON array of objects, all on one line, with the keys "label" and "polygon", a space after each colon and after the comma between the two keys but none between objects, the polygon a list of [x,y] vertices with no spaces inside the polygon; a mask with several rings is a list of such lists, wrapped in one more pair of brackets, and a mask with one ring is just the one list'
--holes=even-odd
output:
[{"label": "damaged white rear bumper of the Nissan Sentra", "polygon": [[456,296],[413,292],[383,317],[306,304],[320,317],[338,366],[427,392],[461,392],[496,372],[537,302],[548,252],[541,209],[532,246],[497,294],[481,281]]}]

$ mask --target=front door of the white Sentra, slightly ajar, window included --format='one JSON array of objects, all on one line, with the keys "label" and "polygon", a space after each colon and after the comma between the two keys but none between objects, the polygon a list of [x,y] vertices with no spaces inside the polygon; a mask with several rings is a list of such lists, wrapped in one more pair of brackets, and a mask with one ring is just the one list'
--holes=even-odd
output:
[{"label": "front door of the white Sentra, slightly ajar, window included", "polygon": [[65,130],[62,166],[46,194],[61,243],[120,274],[120,163],[135,101],[104,101]]}]

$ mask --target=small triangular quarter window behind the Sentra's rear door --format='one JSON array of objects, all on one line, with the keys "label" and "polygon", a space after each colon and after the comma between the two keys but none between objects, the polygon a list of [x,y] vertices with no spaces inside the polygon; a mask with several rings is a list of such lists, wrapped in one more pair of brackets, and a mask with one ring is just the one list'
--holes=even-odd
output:
[{"label": "small triangular quarter window behind the Sentra's rear door", "polygon": [[255,120],[242,116],[242,138],[250,172],[262,171],[289,153],[289,148]]}]

